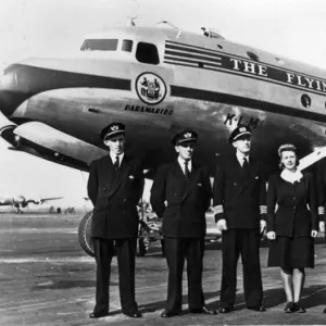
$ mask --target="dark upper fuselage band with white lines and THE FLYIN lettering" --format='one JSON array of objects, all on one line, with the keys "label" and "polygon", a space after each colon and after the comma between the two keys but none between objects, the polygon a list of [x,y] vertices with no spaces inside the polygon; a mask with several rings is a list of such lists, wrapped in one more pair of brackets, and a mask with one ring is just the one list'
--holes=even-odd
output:
[{"label": "dark upper fuselage band with white lines and THE FLYIN lettering", "polygon": [[197,68],[241,75],[326,97],[326,79],[220,51],[166,41],[164,63],[191,67],[197,64]]}]

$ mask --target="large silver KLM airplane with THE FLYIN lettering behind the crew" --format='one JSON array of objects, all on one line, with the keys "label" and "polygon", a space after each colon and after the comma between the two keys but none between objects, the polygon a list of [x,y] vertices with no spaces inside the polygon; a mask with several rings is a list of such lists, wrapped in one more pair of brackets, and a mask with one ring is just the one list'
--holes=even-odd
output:
[{"label": "large silver KLM airplane with THE FLYIN lettering behind the crew", "polygon": [[[151,178],[175,159],[172,136],[199,134],[195,160],[214,175],[217,155],[233,151],[231,130],[252,129],[253,156],[277,168],[284,142],[300,150],[300,168],[326,156],[326,73],[309,64],[168,22],[95,32],[73,53],[27,58],[4,68],[1,137],[11,148],[88,171],[108,154],[101,130],[126,125],[126,151]],[[79,225],[89,244],[91,214]]]}]

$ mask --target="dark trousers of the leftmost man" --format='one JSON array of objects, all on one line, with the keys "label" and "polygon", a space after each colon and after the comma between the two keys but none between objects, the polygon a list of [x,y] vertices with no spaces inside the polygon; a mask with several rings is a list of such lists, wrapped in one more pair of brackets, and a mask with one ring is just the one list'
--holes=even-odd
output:
[{"label": "dark trousers of the leftmost man", "polygon": [[[135,253],[136,238],[129,239],[93,239],[93,250],[97,262],[97,287],[95,313],[110,311],[109,286],[111,261],[116,250],[118,268],[118,289],[123,313],[137,311],[135,300]],[[115,250],[114,250],[115,246]]]}]

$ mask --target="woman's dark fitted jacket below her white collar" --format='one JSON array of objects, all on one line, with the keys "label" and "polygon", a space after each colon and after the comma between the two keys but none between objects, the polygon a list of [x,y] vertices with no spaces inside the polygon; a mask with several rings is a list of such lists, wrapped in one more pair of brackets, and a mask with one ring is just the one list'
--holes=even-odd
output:
[{"label": "woman's dark fitted jacket below her white collar", "polygon": [[312,174],[303,173],[300,183],[294,184],[284,180],[279,173],[273,175],[267,191],[267,231],[275,231],[276,236],[310,237],[312,229],[318,229],[316,197]]}]

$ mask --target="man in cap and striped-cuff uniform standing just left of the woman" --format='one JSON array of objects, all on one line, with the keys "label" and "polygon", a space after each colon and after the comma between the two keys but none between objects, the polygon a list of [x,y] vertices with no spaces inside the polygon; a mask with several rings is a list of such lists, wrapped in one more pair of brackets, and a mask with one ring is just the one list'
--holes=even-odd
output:
[{"label": "man in cap and striped-cuff uniform standing just left of the woman", "polygon": [[260,238],[266,227],[266,179],[263,165],[249,158],[250,128],[238,126],[229,142],[236,148],[236,153],[220,158],[213,187],[215,222],[223,231],[220,313],[228,313],[234,308],[240,253],[246,305],[263,312]]}]

